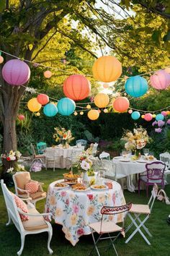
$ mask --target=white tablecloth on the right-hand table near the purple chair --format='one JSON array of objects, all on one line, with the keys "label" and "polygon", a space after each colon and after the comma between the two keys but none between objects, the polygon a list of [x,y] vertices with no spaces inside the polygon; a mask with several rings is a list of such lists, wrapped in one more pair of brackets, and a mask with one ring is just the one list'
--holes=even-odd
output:
[{"label": "white tablecloth on the right-hand table near the purple chair", "polygon": [[128,190],[134,192],[133,174],[140,174],[146,171],[146,163],[156,161],[156,158],[153,161],[146,161],[146,159],[143,158],[133,161],[131,158],[123,158],[120,156],[113,158],[112,161],[115,163],[116,173],[125,174],[125,176],[127,176]]}]

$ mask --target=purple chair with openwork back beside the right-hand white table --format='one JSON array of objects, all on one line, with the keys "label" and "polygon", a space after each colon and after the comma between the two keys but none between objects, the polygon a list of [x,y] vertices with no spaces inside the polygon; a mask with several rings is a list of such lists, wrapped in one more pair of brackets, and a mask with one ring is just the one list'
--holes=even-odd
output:
[{"label": "purple chair with openwork back beside the right-hand white table", "polygon": [[161,185],[164,189],[164,171],[166,165],[161,161],[156,161],[152,163],[146,163],[145,174],[139,174],[138,179],[138,195],[140,195],[140,182],[146,183],[146,195],[148,197],[148,186],[153,186],[154,183]]}]

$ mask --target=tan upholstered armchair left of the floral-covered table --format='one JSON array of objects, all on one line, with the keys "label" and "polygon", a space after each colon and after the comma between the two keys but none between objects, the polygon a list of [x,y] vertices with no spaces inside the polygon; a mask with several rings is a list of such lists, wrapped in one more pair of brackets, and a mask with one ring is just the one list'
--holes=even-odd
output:
[{"label": "tan upholstered armchair left of the floral-covered table", "polygon": [[18,197],[22,198],[31,198],[30,202],[32,202],[34,205],[36,204],[37,201],[42,200],[46,197],[46,192],[43,191],[42,189],[42,184],[41,182],[39,183],[38,191],[30,194],[27,190],[25,190],[25,184],[28,182],[32,181],[35,182],[31,179],[30,172],[28,171],[19,171],[13,176],[14,180],[14,187],[15,187],[15,193]]}]

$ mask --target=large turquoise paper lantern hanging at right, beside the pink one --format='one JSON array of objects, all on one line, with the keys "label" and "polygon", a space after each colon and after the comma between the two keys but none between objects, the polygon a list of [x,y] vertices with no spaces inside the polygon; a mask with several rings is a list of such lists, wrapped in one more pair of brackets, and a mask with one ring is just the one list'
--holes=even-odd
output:
[{"label": "large turquoise paper lantern hanging at right, beside the pink one", "polygon": [[148,82],[140,76],[130,77],[125,82],[125,91],[130,96],[138,98],[145,94],[148,90]]}]

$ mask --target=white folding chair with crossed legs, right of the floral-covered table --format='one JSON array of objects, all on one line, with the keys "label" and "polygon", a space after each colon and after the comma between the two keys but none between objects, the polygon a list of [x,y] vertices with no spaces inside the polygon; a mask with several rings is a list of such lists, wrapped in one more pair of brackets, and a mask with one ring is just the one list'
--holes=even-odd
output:
[{"label": "white folding chair with crossed legs, right of the floral-covered table", "polygon": [[[146,231],[146,234],[148,234],[148,236],[152,236],[151,233],[148,231],[148,229],[145,226],[146,221],[148,220],[148,218],[151,215],[151,210],[153,208],[153,203],[156,200],[156,196],[158,194],[158,186],[156,184],[153,185],[153,189],[151,192],[151,197],[150,200],[148,201],[148,205],[135,205],[132,204],[132,208],[129,210],[128,212],[128,216],[130,217],[130,220],[132,221],[130,223],[130,225],[128,226],[128,228],[125,230],[125,233],[128,232],[128,230],[134,225],[135,226],[135,231],[133,231],[132,234],[130,234],[130,236],[128,237],[128,239],[125,241],[125,243],[127,244],[130,239],[133,238],[133,236],[135,236],[135,234],[137,232],[140,233],[140,235],[143,237],[143,239],[146,241],[146,243],[148,245],[151,245],[151,243],[148,241],[148,239],[146,238],[145,234],[143,234],[143,231],[141,231],[141,228],[143,228],[144,231]],[[143,217],[146,216],[144,219],[140,219],[140,216]],[[138,222],[137,222],[138,221]]]}]

